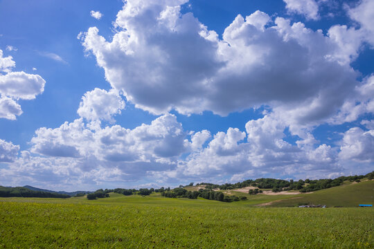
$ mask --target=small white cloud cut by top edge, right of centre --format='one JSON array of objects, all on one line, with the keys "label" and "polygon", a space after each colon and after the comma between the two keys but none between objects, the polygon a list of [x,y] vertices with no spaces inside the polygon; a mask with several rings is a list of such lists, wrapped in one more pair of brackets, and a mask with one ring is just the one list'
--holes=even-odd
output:
[{"label": "small white cloud cut by top edge, right of centre", "polygon": [[306,19],[319,19],[317,1],[314,0],[283,0],[288,12],[304,15]]}]

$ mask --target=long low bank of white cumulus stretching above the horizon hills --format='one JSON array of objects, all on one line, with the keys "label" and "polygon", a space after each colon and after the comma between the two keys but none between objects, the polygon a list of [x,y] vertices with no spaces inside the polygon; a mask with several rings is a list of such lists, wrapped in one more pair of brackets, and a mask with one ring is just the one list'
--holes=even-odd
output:
[{"label": "long low bank of white cumulus stretching above the horizon hills", "polygon": [[[339,149],[320,144],[310,133],[291,144],[285,140],[286,128],[285,122],[268,113],[249,120],[244,131],[229,128],[209,141],[211,133],[206,130],[188,139],[188,132],[171,114],[134,129],[113,125],[93,130],[80,118],[55,129],[38,129],[30,152],[42,156],[22,151],[9,169],[0,171],[14,178],[25,177],[25,170],[34,172],[28,174],[29,181],[51,175],[56,184],[157,178],[162,185],[225,177],[227,181],[261,176],[321,178],[353,170],[352,165],[342,167],[342,160],[373,160],[371,131],[350,129]],[[185,153],[186,158],[181,156]]]}]

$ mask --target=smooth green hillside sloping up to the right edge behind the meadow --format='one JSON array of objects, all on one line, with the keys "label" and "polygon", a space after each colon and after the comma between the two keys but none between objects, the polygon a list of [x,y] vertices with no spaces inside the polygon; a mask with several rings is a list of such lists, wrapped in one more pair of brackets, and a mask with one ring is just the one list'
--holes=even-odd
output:
[{"label": "smooth green hillside sloping up to the right edge behind the meadow", "polygon": [[345,183],[339,187],[319,190],[311,194],[295,195],[297,199],[287,199],[270,205],[271,207],[287,207],[309,203],[328,205],[328,207],[357,207],[359,204],[374,205],[374,181],[361,183]]}]

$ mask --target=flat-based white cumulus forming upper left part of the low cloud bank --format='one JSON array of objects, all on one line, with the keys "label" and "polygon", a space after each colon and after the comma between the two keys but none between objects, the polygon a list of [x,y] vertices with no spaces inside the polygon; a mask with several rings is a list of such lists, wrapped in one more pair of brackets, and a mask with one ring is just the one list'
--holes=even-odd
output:
[{"label": "flat-based white cumulus forming upper left part of the low cloud bank", "polygon": [[94,131],[78,119],[56,129],[40,128],[35,135],[32,151],[46,156],[157,164],[175,162],[186,151],[186,134],[170,114],[132,130],[114,125]]}]

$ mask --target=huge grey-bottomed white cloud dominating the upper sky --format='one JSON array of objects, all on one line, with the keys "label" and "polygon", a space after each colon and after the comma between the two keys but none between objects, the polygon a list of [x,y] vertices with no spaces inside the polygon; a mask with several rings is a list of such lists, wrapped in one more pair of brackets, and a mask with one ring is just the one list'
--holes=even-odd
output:
[{"label": "huge grey-bottomed white cloud dominating the upper sky", "polygon": [[[337,35],[256,11],[238,15],[222,39],[186,1],[127,1],[111,42],[89,28],[83,45],[105,77],[136,107],[153,113],[211,110],[220,115],[269,105],[294,124],[326,122],[353,92],[357,73],[341,58]],[[355,50],[355,51],[352,51]],[[280,114],[281,115],[281,114]]]}]

